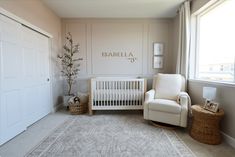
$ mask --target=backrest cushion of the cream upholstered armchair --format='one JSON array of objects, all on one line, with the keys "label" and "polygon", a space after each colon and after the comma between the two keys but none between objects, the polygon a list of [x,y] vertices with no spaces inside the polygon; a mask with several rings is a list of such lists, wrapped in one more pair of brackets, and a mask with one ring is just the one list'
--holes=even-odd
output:
[{"label": "backrest cushion of the cream upholstered armchair", "polygon": [[157,74],[155,76],[155,99],[177,100],[182,89],[182,76],[179,74]]}]

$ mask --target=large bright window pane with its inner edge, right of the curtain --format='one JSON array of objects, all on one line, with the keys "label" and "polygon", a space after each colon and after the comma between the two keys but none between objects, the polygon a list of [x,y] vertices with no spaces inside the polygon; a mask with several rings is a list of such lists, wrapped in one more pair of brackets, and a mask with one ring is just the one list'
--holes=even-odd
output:
[{"label": "large bright window pane with its inner edge, right of the curtain", "polygon": [[235,83],[235,0],[197,15],[195,78]]}]

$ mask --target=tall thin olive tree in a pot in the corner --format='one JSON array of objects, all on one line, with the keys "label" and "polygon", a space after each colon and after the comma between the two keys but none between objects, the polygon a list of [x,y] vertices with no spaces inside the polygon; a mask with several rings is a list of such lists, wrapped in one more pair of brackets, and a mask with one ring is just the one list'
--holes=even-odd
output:
[{"label": "tall thin olive tree in a pot in the corner", "polygon": [[64,105],[68,106],[68,100],[74,96],[72,88],[78,76],[78,72],[80,71],[79,61],[82,60],[82,58],[79,58],[77,55],[79,53],[79,44],[74,44],[70,32],[66,35],[65,39],[66,42],[63,46],[64,53],[62,55],[58,55],[58,58],[60,59],[62,66],[61,73],[67,84],[67,92],[63,97]]}]

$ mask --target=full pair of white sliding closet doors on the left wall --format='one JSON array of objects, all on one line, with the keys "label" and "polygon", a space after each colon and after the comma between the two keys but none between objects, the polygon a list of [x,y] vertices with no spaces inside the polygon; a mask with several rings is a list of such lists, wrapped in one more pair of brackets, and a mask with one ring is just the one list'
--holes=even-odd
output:
[{"label": "full pair of white sliding closet doors on the left wall", "polygon": [[0,15],[0,145],[52,109],[49,39]]}]

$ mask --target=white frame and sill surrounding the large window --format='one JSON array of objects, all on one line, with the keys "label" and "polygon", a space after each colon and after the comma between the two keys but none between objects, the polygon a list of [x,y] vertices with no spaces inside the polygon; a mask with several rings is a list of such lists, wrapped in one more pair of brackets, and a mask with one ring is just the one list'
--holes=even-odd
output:
[{"label": "white frame and sill surrounding the large window", "polygon": [[[231,82],[226,81],[214,81],[209,79],[201,79],[198,78],[199,71],[199,34],[200,34],[200,17],[204,14],[208,13],[221,3],[223,3],[225,0],[217,0],[213,3],[209,3],[204,8],[200,9],[198,12],[195,12],[191,15],[191,50],[190,50],[190,58],[189,62],[192,64],[189,64],[189,80],[196,81],[196,82],[205,82],[205,83],[215,83],[215,84],[225,84],[225,85],[232,85],[235,86],[235,72],[234,72],[234,79]],[[234,64],[235,69],[235,64]]]}]

